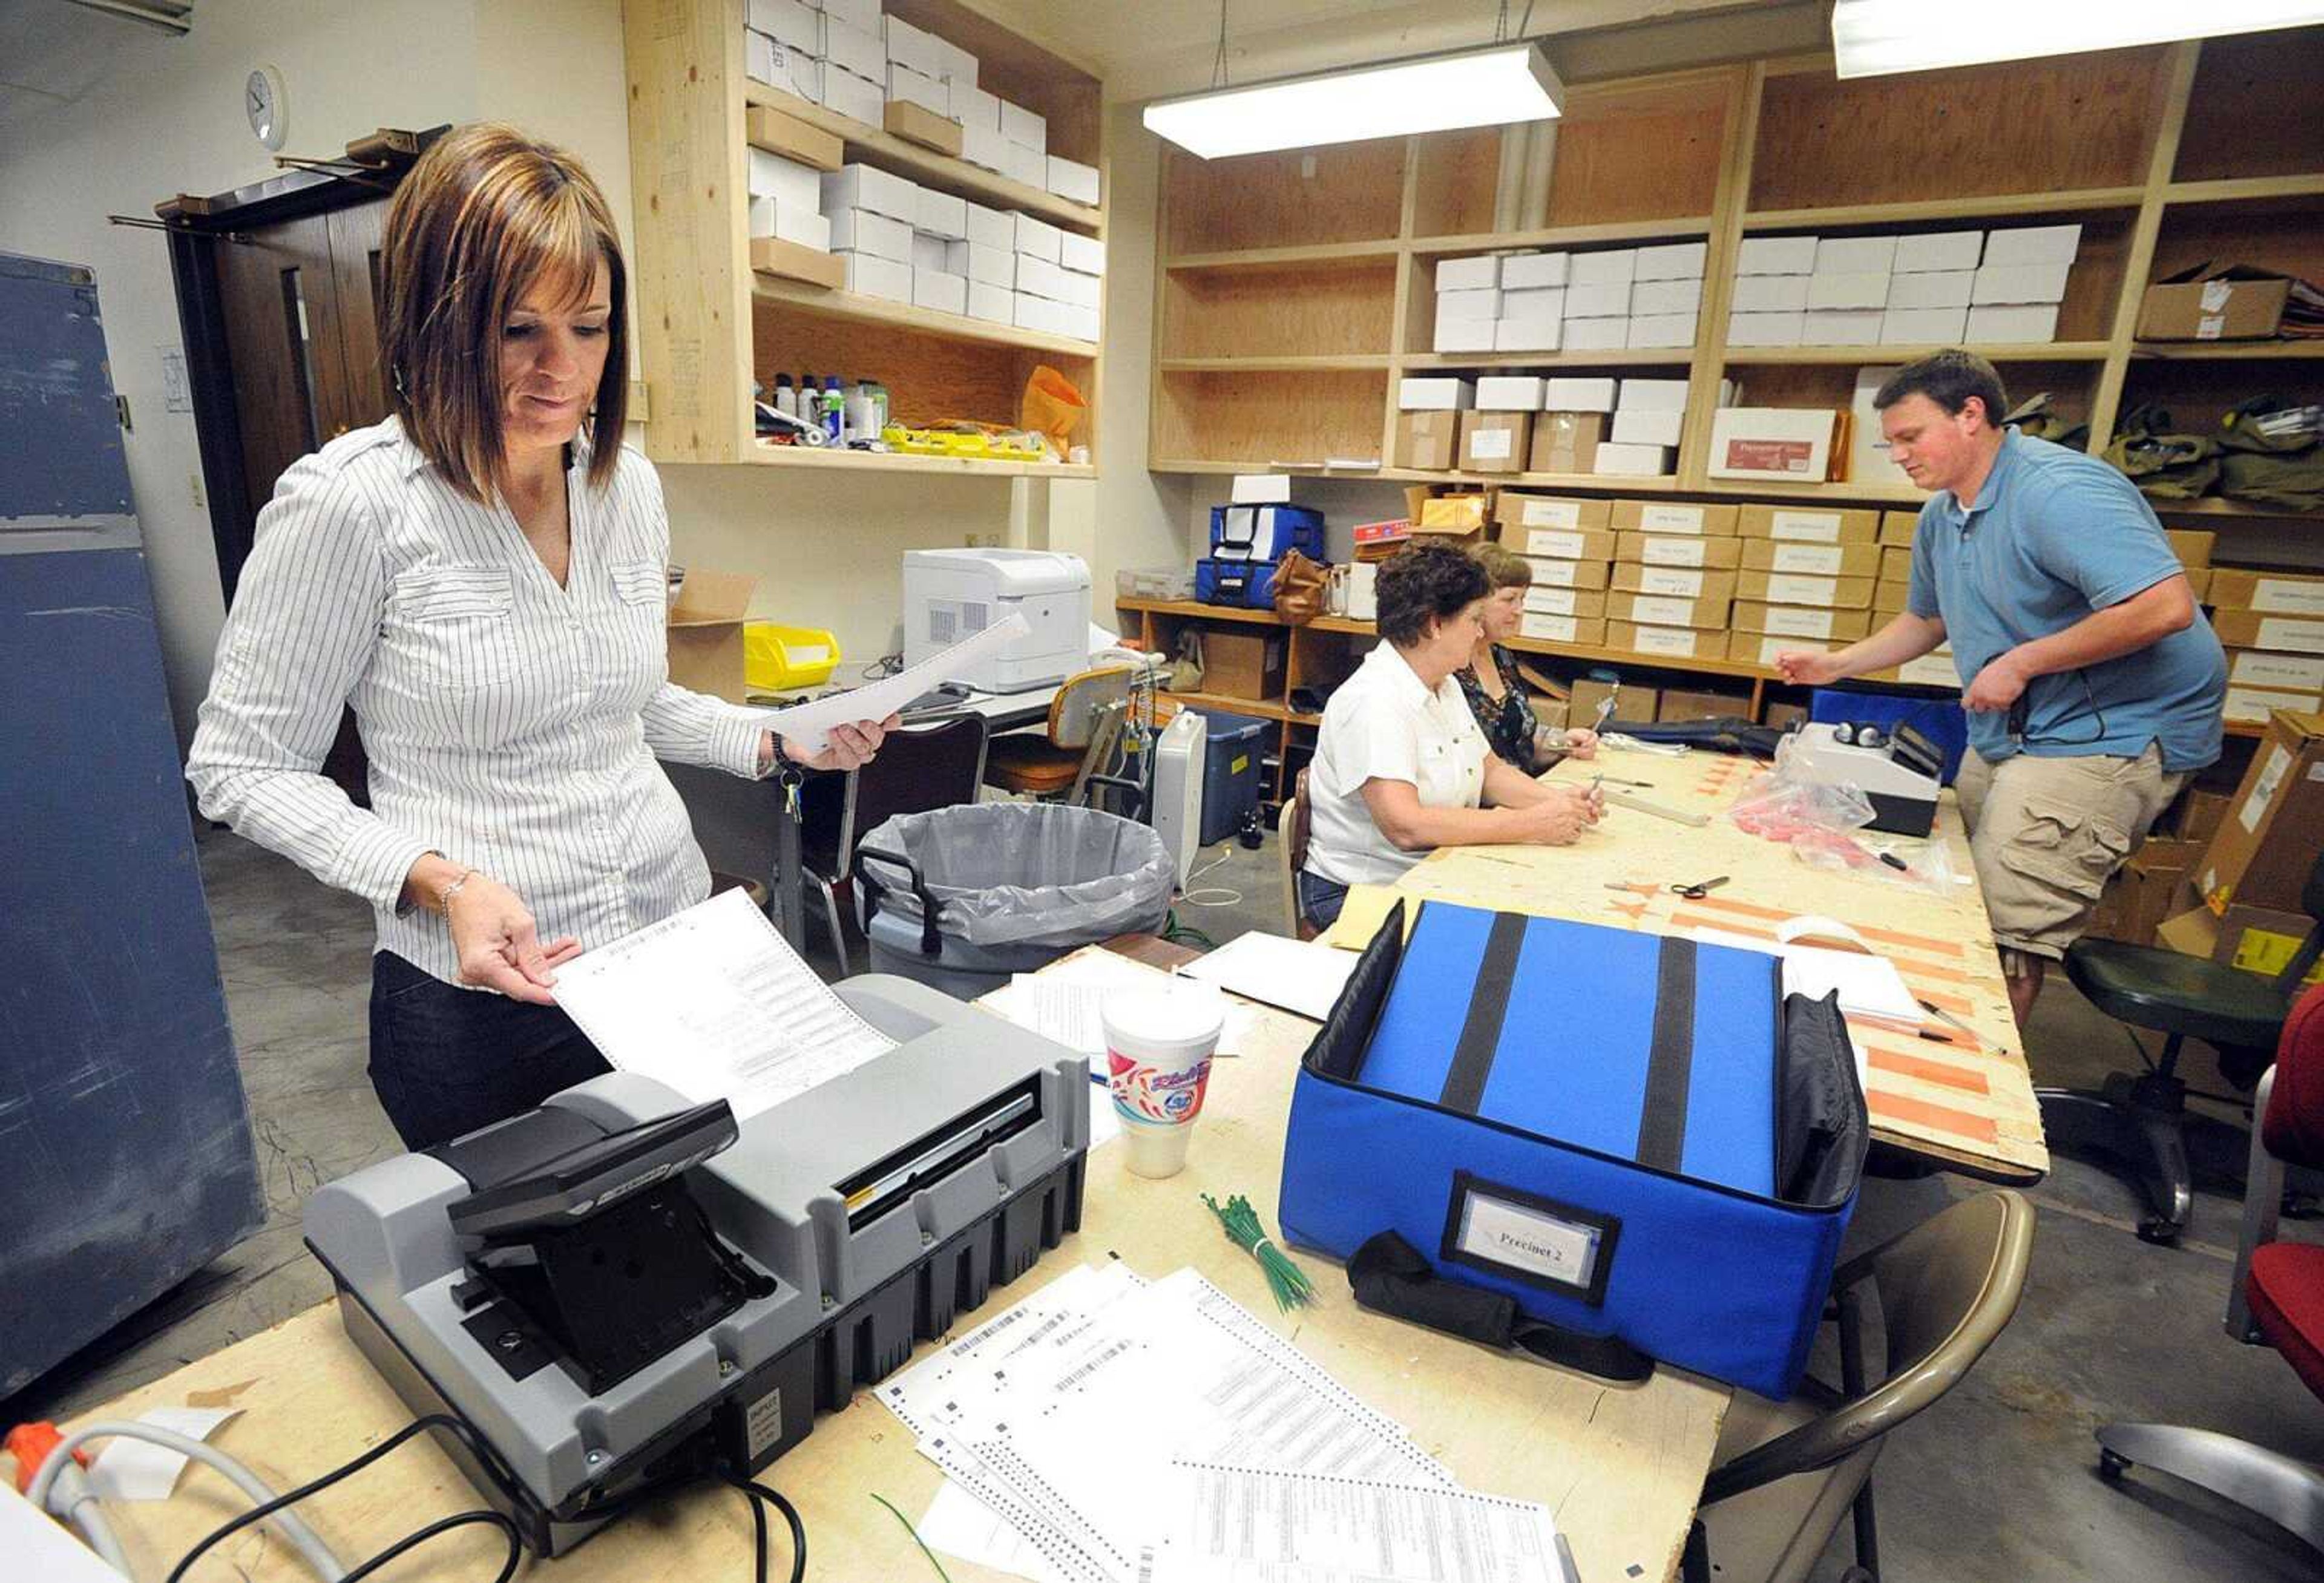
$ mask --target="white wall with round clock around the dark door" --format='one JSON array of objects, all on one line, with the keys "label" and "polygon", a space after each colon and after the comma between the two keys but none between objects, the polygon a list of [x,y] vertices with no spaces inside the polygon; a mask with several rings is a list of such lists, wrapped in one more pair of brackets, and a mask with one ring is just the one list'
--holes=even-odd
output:
[{"label": "white wall with round clock around the dark door", "polygon": [[[130,486],[160,609],[163,660],[179,739],[209,686],[225,607],[209,511],[200,497],[193,414],[163,411],[163,351],[181,351],[165,239],[107,225],[153,219],[174,193],[218,193],[272,174],[251,137],[242,81],[284,72],[286,153],[332,156],[381,126],[425,128],[476,114],[472,0],[205,0],[188,37],[74,7],[58,28],[105,28],[119,63],[84,98],[14,121],[0,142],[0,249],[91,265],[114,386],[130,402]],[[383,46],[432,40],[437,46]],[[23,63],[9,63],[16,77]]]}]

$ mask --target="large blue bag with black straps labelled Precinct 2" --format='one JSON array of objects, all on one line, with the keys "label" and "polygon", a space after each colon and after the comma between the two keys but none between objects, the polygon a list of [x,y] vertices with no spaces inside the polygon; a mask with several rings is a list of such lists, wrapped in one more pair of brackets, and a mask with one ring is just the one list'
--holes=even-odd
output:
[{"label": "large blue bag with black straps labelled Precinct 2", "polygon": [[[1838,1000],[1778,972],[1443,902],[1406,941],[1399,902],[1301,1058],[1283,1234],[1401,1318],[1506,1344],[1515,1304],[1515,1339],[1562,1362],[1792,1395],[1871,1120]],[[1425,1302],[1373,1302],[1383,1244]],[[1446,1323],[1455,1299],[1499,1304],[1499,1330]]]}]

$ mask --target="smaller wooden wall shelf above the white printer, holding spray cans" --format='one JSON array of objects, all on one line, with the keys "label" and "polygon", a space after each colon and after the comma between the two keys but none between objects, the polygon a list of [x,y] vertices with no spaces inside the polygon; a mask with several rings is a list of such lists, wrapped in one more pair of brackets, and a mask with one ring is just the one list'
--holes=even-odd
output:
[{"label": "smaller wooden wall shelf above the white printer, holding spray cans", "polygon": [[[885,0],[904,21],[978,58],[978,84],[1048,119],[1053,153],[1106,170],[1102,88],[1092,72],[990,21],[960,0]],[[904,142],[883,128],[809,105],[744,74],[744,0],[655,0],[623,7],[630,79],[630,170],[637,249],[632,293],[655,463],[755,463],[813,472],[951,477],[1095,477],[1088,465],[988,463],[767,446],[751,418],[753,379],[841,374],[888,386],[904,423],[1016,423],[1039,365],[1088,397],[1076,444],[1097,456],[1097,344],[934,309],[825,291],[760,272],[748,235],[748,116],[753,107],[839,137],[848,160],[955,198],[1020,209],[1088,237],[1106,212]],[[1106,184],[1102,191],[1109,191]]]}]

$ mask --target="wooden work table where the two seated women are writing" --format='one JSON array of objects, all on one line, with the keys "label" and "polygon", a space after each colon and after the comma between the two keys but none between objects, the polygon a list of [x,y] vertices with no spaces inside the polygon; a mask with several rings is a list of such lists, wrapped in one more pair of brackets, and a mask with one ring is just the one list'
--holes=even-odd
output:
[{"label": "wooden work table where the two seated women are writing", "polygon": [[[1968,835],[1950,790],[1938,807],[1934,839],[1964,883],[1952,886],[1950,895],[1934,895],[1885,867],[1810,867],[1787,844],[1738,830],[1727,821],[1727,809],[1757,774],[1748,758],[1664,758],[1606,748],[1594,760],[1566,760],[1550,776],[1585,783],[1599,772],[1652,781],[1650,790],[1608,790],[1708,814],[1710,823],[1690,828],[1608,807],[1606,818],[1573,846],[1448,846],[1413,867],[1397,890],[1652,934],[1727,930],[1766,944],[1773,944],[1776,925],[1796,914],[1836,918],[1896,962],[1920,1000],[1975,1030],[1968,1037],[1929,1018],[1927,1030],[1941,1034],[1938,1041],[1850,1020],[1850,1037],[1868,1062],[1873,1137],[1987,1181],[2022,1186],[2047,1174],[2050,1151],[2043,1146],[2033,1079],[1985,918],[1985,895],[1968,860]],[[1727,883],[1701,900],[1673,895],[1678,883],[1717,874]],[[1350,918],[1350,925],[1357,921]]]}]

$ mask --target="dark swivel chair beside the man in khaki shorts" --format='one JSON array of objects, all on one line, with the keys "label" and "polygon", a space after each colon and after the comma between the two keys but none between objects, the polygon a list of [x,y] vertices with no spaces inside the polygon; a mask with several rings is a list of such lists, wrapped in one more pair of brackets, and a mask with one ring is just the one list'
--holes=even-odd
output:
[{"label": "dark swivel chair beside the man in khaki shorts", "polygon": [[2178,1241],[2194,1197],[2180,1044],[2192,1037],[2215,1046],[2229,1081],[2243,1088],[2268,1069],[2301,979],[2324,951],[2324,853],[2301,888],[2301,909],[2315,923],[2275,979],[2119,939],[2078,939],[2066,951],[2066,976],[2099,1011],[2164,1034],[2161,1060],[2138,1076],[2115,1072],[2096,1093],[2033,1090],[2052,1146],[2108,1155],[2145,1188],[2154,1213],[2138,1223],[2138,1234],[2147,1241]]}]

